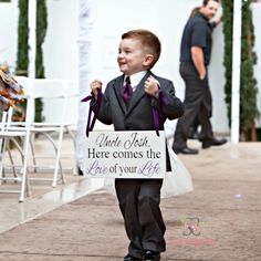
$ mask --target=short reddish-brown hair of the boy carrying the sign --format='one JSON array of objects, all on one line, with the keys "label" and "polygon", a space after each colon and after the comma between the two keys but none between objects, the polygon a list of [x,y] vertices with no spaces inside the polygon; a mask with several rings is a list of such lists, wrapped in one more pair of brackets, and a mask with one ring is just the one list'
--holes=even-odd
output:
[{"label": "short reddish-brown hair of the boy carrying the sign", "polygon": [[161,43],[156,34],[145,29],[132,30],[122,35],[123,39],[138,39],[143,46],[148,50],[149,54],[153,54],[154,60],[150,64],[150,69],[158,61],[161,52]]}]

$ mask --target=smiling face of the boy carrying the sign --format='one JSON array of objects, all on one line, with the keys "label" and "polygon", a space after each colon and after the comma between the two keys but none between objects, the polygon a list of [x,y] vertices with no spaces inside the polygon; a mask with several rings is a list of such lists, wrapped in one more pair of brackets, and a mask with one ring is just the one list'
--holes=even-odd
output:
[{"label": "smiling face of the boy carrying the sign", "polygon": [[150,54],[146,54],[139,40],[123,39],[118,48],[118,67],[124,74],[132,75],[134,73],[148,69],[152,59]]}]

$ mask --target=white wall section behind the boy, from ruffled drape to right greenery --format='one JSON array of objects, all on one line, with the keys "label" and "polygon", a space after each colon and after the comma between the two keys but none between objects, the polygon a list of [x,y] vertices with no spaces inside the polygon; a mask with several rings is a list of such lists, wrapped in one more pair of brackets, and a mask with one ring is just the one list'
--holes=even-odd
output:
[{"label": "white wall section behind the boy, from ruffled drape to right greenery", "polygon": [[[90,0],[92,28],[91,75],[104,84],[119,74],[116,56],[121,35],[136,28],[155,32],[163,44],[161,56],[153,71],[173,80],[177,96],[184,98],[185,84],[179,75],[179,49],[184,25],[190,11],[201,0]],[[138,8],[137,8],[138,7]],[[210,86],[213,96],[213,130],[228,132],[223,93],[223,39],[219,25],[213,32],[213,54],[210,65]],[[175,128],[176,121],[167,126]]]}]

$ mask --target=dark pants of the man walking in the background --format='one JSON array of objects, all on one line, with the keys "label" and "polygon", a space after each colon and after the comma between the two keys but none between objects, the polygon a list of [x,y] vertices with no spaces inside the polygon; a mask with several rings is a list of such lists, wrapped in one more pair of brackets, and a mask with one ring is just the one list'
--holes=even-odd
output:
[{"label": "dark pants of the man walking in the background", "polygon": [[180,75],[186,84],[185,91],[185,113],[178,119],[175,136],[174,148],[182,149],[187,146],[189,128],[195,119],[201,126],[201,140],[211,140],[212,126],[210,117],[212,115],[212,98],[208,83],[208,75],[200,80],[192,64],[181,63],[179,67]]}]

